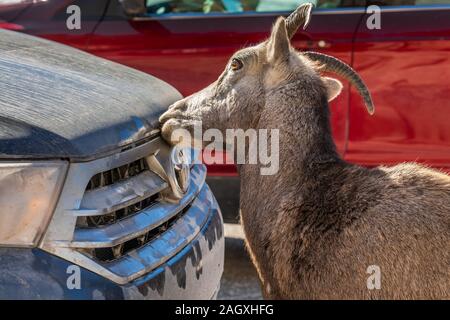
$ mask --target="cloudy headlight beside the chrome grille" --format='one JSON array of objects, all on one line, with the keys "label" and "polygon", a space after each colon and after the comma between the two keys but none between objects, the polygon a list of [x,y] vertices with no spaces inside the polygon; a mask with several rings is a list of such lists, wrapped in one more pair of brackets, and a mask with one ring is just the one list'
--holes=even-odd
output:
[{"label": "cloudy headlight beside the chrome grille", "polygon": [[0,162],[0,246],[38,244],[66,171],[63,161]]}]

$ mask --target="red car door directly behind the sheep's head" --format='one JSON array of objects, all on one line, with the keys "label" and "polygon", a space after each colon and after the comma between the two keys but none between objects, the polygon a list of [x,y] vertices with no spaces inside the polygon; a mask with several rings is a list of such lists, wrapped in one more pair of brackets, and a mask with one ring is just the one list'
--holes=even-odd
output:
[{"label": "red car door directly behind the sheep's head", "polygon": [[[264,40],[277,16],[287,15],[303,2],[150,0],[146,14],[130,18],[113,0],[88,51],[148,72],[189,95],[216,80],[233,52]],[[321,50],[351,63],[352,38],[363,11],[348,9],[352,1],[347,2],[320,0],[311,25],[296,34],[294,46]],[[347,109],[346,89],[332,112],[333,133],[342,153]]]}]

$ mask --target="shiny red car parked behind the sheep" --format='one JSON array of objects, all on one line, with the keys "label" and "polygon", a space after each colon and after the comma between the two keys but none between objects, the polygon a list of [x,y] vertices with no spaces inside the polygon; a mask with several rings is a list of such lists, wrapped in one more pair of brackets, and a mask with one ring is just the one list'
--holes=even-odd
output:
[{"label": "shiny red car parked behind the sheep", "polygon": [[[151,73],[189,95],[302,2],[10,0],[0,1],[0,26]],[[70,5],[80,8],[80,29],[67,27]],[[366,166],[419,161],[450,171],[450,0],[317,0],[311,24],[293,44],[346,61],[371,90],[374,116],[348,84],[332,103],[345,159]],[[225,216],[236,216],[235,168],[211,166],[209,175]]]}]

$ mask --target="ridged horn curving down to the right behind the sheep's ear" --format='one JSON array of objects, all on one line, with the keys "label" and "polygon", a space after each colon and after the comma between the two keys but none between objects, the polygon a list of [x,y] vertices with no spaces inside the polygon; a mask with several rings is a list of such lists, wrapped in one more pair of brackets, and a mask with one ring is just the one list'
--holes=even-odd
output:
[{"label": "ridged horn curving down to the right behind the sheep's ear", "polygon": [[302,54],[311,60],[322,63],[323,71],[334,72],[348,80],[353,86],[355,86],[361,97],[364,99],[364,104],[366,105],[367,111],[370,114],[375,112],[375,106],[373,105],[369,89],[352,67],[339,59],[323,53],[307,51],[302,52]]}]

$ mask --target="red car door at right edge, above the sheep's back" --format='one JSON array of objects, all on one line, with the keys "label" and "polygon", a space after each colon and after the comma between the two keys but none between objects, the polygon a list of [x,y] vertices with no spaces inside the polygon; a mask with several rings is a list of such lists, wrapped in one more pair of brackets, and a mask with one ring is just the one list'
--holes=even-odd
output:
[{"label": "red car door at right edge, above the sheep's back", "polygon": [[366,15],[354,47],[354,68],[376,110],[369,116],[351,91],[346,158],[364,165],[420,161],[449,170],[450,0],[377,3],[380,29],[369,29]]}]

